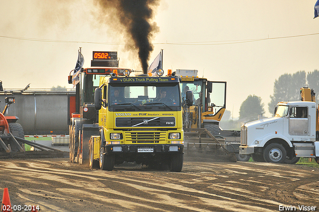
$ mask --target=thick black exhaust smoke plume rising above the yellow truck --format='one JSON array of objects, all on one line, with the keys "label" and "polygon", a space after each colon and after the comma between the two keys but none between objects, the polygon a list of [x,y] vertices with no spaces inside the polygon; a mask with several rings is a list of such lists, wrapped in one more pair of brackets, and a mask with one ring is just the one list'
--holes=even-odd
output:
[{"label": "thick black exhaust smoke plume rising above the yellow truck", "polygon": [[159,31],[156,22],[151,22],[159,0],[96,1],[108,17],[106,23],[116,30],[124,30],[128,43],[133,40],[134,48],[138,49],[139,52],[143,72],[147,73],[148,60],[153,51],[151,40],[154,34]]}]

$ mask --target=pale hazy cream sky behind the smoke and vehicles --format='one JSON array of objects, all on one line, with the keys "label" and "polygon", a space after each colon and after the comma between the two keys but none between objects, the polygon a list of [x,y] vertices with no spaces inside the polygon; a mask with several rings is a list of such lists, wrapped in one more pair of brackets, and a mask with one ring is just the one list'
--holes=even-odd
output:
[{"label": "pale hazy cream sky behind the smoke and vehicles", "polygon": [[[149,64],[163,49],[163,69],[197,69],[227,82],[226,109],[239,117],[249,95],[268,112],[282,74],[319,69],[317,0],[159,0]],[[78,49],[89,67],[92,51],[117,51],[120,66],[142,70],[121,30],[108,24],[96,0],[0,0],[0,80],[4,89],[72,88],[67,76]],[[303,87],[305,85],[301,85]],[[316,91],[315,91],[316,92]],[[319,91],[317,91],[319,93]]]}]

